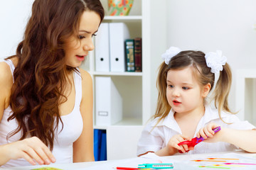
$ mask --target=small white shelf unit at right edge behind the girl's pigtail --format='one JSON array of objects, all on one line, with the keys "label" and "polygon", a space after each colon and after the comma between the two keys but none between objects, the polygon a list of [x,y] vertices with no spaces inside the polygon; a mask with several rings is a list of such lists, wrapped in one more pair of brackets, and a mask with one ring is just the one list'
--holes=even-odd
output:
[{"label": "small white shelf unit at right edge behind the girl's pigtail", "polygon": [[238,69],[235,84],[235,111],[241,120],[256,125],[256,69]]}]

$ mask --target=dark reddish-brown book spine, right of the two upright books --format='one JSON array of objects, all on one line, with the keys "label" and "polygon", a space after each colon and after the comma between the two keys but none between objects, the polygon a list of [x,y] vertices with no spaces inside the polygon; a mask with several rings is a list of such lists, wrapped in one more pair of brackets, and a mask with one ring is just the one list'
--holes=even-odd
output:
[{"label": "dark reddish-brown book spine, right of the two upright books", "polygon": [[134,39],[135,72],[142,72],[142,38]]}]

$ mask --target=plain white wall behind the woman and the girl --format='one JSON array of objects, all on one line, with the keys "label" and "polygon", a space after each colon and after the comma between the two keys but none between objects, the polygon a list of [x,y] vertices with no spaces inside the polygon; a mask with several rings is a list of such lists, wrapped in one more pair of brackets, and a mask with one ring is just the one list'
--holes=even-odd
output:
[{"label": "plain white wall behind the woman and the girl", "polygon": [[[0,58],[15,54],[32,3],[33,0],[1,1]],[[252,28],[256,24],[255,0],[167,0],[163,11],[167,14],[167,19],[164,18],[167,21],[167,47],[154,47],[155,50],[171,45],[181,50],[223,50],[233,69],[233,78],[237,69],[255,68],[256,30]],[[156,36],[165,35],[157,29],[154,32]],[[157,67],[161,62],[159,58],[154,61]],[[235,81],[229,102],[231,108],[235,108]]]}]

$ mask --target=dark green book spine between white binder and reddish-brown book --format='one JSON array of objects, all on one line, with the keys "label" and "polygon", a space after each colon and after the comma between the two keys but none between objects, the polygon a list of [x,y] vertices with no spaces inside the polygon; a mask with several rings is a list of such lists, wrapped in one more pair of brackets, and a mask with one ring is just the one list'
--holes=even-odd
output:
[{"label": "dark green book spine between white binder and reddish-brown book", "polygon": [[134,61],[134,40],[125,40],[125,57],[126,57],[126,71],[135,72],[135,61]]}]

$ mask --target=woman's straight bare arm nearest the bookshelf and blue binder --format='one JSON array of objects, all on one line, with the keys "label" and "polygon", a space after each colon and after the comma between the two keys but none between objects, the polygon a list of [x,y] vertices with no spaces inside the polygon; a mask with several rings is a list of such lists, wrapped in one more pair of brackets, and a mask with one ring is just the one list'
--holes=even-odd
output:
[{"label": "woman's straight bare arm nearest the bookshelf and blue binder", "polygon": [[73,143],[73,162],[93,162],[93,122],[92,122],[92,77],[80,69],[82,77],[82,101],[80,112],[82,115],[82,134]]}]

